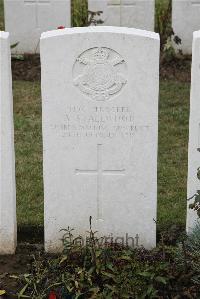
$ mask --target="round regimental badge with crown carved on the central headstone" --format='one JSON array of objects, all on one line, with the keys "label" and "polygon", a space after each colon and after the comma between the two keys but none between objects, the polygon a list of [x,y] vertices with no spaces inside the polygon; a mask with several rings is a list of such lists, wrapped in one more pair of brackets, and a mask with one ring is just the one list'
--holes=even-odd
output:
[{"label": "round regimental badge with crown carved on the central headstone", "polygon": [[125,86],[126,63],[114,50],[101,47],[83,52],[74,64],[74,85],[96,101],[106,101]]}]

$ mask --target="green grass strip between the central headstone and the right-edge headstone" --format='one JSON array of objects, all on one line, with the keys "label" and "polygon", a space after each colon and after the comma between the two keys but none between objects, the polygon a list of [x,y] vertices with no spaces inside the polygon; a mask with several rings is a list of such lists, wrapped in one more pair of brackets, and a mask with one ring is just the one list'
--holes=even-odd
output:
[{"label": "green grass strip between the central headstone and the right-edge headstone", "polygon": [[189,83],[160,84],[158,222],[185,224]]}]

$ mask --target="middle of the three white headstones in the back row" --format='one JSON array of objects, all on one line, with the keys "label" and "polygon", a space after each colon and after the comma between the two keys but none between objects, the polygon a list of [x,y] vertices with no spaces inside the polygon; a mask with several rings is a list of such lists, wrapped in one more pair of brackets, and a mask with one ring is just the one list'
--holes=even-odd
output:
[{"label": "middle of the three white headstones in the back row", "polygon": [[103,11],[103,25],[154,31],[155,0],[88,0],[88,9]]}]

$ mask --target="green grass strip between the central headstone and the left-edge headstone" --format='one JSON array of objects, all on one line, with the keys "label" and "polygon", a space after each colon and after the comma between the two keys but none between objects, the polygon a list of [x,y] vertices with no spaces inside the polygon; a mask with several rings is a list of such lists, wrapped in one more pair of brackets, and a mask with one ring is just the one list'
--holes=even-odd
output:
[{"label": "green grass strip between the central headstone and the left-edge headstone", "polygon": [[14,82],[17,217],[43,223],[41,97],[39,82]]}]

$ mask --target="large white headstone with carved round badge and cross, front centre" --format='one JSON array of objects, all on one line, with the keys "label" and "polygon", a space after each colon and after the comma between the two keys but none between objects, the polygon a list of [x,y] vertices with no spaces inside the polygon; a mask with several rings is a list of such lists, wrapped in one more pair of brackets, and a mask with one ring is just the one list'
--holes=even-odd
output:
[{"label": "large white headstone with carved round badge and cross, front centre", "polygon": [[45,248],[60,229],[156,244],[159,36],[92,26],[41,38]]}]

